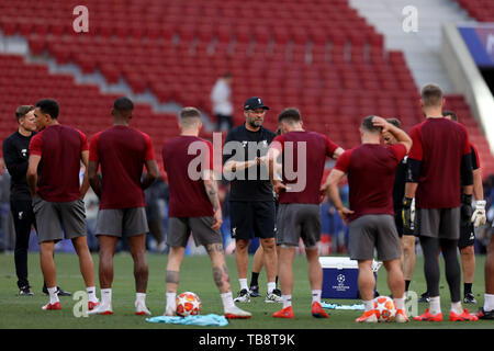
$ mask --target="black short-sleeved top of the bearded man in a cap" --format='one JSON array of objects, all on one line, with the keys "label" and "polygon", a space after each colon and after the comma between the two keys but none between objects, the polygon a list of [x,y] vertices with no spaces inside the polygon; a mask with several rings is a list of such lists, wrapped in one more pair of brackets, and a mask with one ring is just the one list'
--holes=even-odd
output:
[{"label": "black short-sleeved top of the bearded man in a cap", "polygon": [[[248,131],[245,127],[245,124],[231,129],[226,135],[223,148],[223,165],[226,163],[228,159],[235,161],[248,161],[254,160],[256,157],[266,156],[268,154],[269,145],[274,137],[276,134],[273,132],[266,129],[262,126],[257,132]],[[238,144],[227,145],[229,141],[238,141]],[[236,152],[235,146],[242,148],[243,151]],[[227,178],[227,174],[225,174],[225,177],[231,180],[229,201],[273,201],[268,168],[255,166],[255,177],[254,171],[249,171],[249,169],[246,169],[243,174],[240,174],[242,172],[237,172],[237,176],[243,177],[235,177],[234,179],[229,179]],[[249,173],[251,176],[249,176]]]}]

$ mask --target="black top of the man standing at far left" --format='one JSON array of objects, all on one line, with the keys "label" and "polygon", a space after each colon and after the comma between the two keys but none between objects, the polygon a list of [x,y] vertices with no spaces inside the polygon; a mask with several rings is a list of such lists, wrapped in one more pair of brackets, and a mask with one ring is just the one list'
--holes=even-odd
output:
[{"label": "black top of the man standing at far left", "polygon": [[30,141],[36,133],[23,136],[15,132],[3,141],[3,159],[11,177],[10,200],[31,200],[26,173],[30,158]]}]

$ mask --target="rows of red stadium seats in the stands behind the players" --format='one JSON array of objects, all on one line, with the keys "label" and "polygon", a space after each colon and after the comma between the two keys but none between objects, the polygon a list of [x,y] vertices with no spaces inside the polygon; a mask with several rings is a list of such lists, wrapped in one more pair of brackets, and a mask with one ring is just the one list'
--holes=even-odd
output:
[{"label": "rows of red stadium seats in the stands behind the players", "polygon": [[[458,1],[472,11],[478,4],[494,9],[489,0]],[[366,115],[400,117],[405,129],[423,118],[418,90],[403,53],[386,52],[383,35],[348,0],[87,0],[89,33],[79,34],[67,23],[76,5],[66,0],[2,0],[0,29],[4,35],[26,37],[32,55],[47,54],[60,65],[76,64],[83,73],[98,71],[109,83],[123,79],[135,93],[149,90],[162,103],[195,105],[209,114],[214,81],[231,71],[236,124],[244,118],[245,99],[260,95],[272,107],[266,126],[276,128],[277,114],[294,105],[307,127],[328,134],[345,148],[359,143],[358,123]],[[23,101],[32,103],[46,95],[59,99],[63,111],[77,113],[83,105],[80,97],[87,97],[91,102],[83,109],[85,122],[70,120],[72,113],[67,113],[67,122],[78,123],[90,134],[104,126],[96,121],[110,123],[111,95],[46,69],[41,72],[42,67],[25,65],[20,57],[1,59],[12,61],[10,68],[0,65],[4,82],[0,89],[5,92],[2,98],[8,97],[0,101],[2,116]],[[38,80],[29,84],[16,75],[5,79],[8,69],[40,70],[50,88],[37,89]],[[12,82],[18,90],[11,89]],[[61,82],[65,88],[58,86]],[[461,111],[461,122],[479,144],[481,161],[494,172],[493,158],[469,106],[461,97],[449,97],[448,103]],[[177,132],[176,122],[145,106],[139,105],[143,113],[137,115],[142,115],[143,128],[156,136],[158,147],[169,133]]]}]

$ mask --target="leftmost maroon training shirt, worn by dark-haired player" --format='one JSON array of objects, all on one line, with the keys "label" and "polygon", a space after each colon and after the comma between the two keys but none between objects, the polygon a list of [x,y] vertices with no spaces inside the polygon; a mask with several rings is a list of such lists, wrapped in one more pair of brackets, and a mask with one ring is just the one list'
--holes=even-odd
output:
[{"label": "leftmost maroon training shirt, worn by dark-haired player", "polygon": [[66,125],[52,125],[33,136],[30,154],[42,157],[37,192],[43,200],[70,202],[80,197],[80,156],[85,150],[86,135]]}]

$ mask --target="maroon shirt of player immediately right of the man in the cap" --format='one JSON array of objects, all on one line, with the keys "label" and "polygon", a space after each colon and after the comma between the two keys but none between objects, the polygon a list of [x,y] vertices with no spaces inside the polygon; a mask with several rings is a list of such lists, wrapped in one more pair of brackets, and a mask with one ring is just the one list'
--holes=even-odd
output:
[{"label": "maroon shirt of player immediately right of the man in the cap", "polygon": [[[305,143],[305,189],[301,192],[288,192],[280,193],[280,204],[318,204],[322,201],[321,196],[321,180],[324,173],[324,163],[326,157],[333,157],[335,150],[339,147],[327,136],[315,132],[289,132],[283,135],[279,135],[273,139],[273,143],[281,144],[281,151],[283,152],[283,184],[290,185],[291,183],[300,182],[300,180],[288,180],[284,172],[284,167],[288,166],[289,170],[297,172],[299,177],[299,158],[297,158],[297,143]],[[293,166],[287,163],[287,143],[293,143]],[[271,144],[271,147],[276,147],[276,144]],[[291,163],[291,162],[289,162]]]}]

